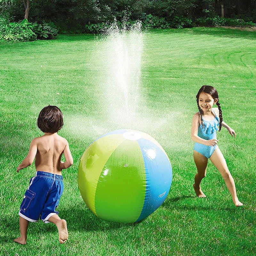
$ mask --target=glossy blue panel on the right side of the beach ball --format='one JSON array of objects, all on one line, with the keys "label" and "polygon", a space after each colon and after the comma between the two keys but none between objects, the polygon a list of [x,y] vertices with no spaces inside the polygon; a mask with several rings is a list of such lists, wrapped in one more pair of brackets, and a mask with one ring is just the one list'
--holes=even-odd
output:
[{"label": "glossy blue panel on the right side of the beach ball", "polygon": [[146,170],[146,195],[139,219],[154,212],[167,197],[172,184],[172,166],[165,152],[154,142],[138,140]]}]

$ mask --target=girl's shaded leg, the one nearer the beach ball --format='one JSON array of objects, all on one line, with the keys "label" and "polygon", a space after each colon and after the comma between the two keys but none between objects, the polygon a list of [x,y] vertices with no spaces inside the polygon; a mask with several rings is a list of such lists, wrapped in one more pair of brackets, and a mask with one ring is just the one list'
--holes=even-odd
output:
[{"label": "girl's shaded leg, the one nearer the beach ball", "polygon": [[195,184],[193,185],[193,187],[198,197],[206,197],[203,191],[201,190],[200,183],[206,175],[208,159],[194,150],[194,161],[196,164],[197,173],[195,176]]}]

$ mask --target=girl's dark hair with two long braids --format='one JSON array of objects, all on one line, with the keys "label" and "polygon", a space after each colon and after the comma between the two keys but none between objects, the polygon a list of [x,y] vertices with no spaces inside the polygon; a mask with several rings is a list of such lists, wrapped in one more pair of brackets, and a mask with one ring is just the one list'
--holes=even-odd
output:
[{"label": "girl's dark hair with two long braids", "polygon": [[218,92],[217,92],[217,90],[216,90],[214,87],[212,87],[212,86],[210,86],[210,85],[203,85],[203,86],[199,89],[199,91],[197,92],[197,94],[196,94],[197,107],[198,107],[198,109],[199,109],[199,113],[200,113],[200,116],[201,116],[201,124],[202,124],[203,128],[204,128],[204,122],[203,122],[204,111],[203,111],[203,109],[201,109],[200,106],[199,106],[199,95],[200,95],[201,92],[208,93],[208,94],[210,94],[210,95],[212,96],[212,98],[213,98],[214,100],[218,100],[218,101],[216,102],[216,105],[217,105],[218,108],[219,108],[219,116],[220,116],[219,131],[220,131],[220,130],[221,130],[222,120],[223,120],[223,119],[222,119],[222,111],[221,111],[221,108],[220,108],[220,102],[219,102],[219,95],[218,95]]}]

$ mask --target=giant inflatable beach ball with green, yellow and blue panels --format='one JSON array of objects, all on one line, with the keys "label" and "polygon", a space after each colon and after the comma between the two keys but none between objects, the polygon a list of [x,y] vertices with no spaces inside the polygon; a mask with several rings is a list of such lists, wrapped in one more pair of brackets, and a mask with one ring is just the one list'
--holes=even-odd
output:
[{"label": "giant inflatable beach ball with green, yellow and blue panels", "polygon": [[168,156],[143,132],[109,132],[84,151],[79,163],[81,196],[103,220],[143,220],[164,202],[171,184]]}]

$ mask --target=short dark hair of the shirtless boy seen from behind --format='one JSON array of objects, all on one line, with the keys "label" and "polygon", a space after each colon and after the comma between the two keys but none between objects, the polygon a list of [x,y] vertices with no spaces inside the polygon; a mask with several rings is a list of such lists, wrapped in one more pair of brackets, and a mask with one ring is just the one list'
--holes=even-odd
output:
[{"label": "short dark hair of the shirtless boy seen from behind", "polygon": [[37,118],[37,126],[42,132],[58,132],[63,126],[60,108],[50,105],[44,107]]}]

